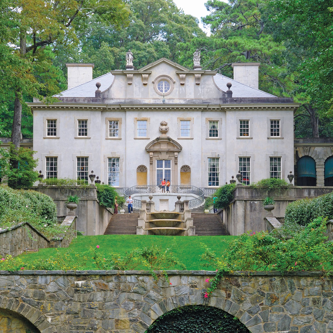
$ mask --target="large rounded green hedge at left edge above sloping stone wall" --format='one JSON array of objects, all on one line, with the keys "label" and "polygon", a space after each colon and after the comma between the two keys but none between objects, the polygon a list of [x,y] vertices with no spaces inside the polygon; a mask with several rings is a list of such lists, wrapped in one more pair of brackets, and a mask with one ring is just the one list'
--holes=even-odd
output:
[{"label": "large rounded green hedge at left edge above sloping stone wall", "polygon": [[0,217],[9,210],[31,211],[34,215],[54,223],[57,221],[57,206],[46,194],[33,190],[16,190],[0,185]]}]

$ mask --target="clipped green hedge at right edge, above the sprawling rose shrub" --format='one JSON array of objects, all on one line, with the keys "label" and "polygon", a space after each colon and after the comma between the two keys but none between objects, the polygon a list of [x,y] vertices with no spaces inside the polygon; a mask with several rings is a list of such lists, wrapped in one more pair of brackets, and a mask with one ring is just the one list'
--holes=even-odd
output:
[{"label": "clipped green hedge at right edge, above the sprawling rose shrub", "polygon": [[307,225],[319,216],[333,218],[333,192],[289,203],[286,207],[285,221]]}]

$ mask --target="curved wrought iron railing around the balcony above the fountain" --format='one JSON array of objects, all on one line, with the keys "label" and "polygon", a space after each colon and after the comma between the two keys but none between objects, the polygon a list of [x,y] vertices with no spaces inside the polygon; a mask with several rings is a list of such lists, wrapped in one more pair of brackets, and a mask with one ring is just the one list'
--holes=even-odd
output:
[{"label": "curved wrought iron railing around the balcony above the fountain", "polygon": [[[160,185],[141,185],[132,186],[124,191],[125,200],[133,194],[143,194],[143,193],[161,193],[162,190],[167,193],[167,189],[162,189]],[[196,186],[185,186],[185,185],[170,185],[169,193],[191,193],[197,195],[196,198],[189,200],[188,208],[194,208],[200,206],[204,201],[204,191]],[[141,201],[138,199],[133,199],[133,207],[141,208]]]}]

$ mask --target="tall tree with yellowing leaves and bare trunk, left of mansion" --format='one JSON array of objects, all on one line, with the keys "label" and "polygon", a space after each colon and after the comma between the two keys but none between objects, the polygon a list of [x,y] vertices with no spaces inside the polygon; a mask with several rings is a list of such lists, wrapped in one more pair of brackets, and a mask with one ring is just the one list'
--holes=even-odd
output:
[{"label": "tall tree with yellowing leaves and bare trunk, left of mansion", "polygon": [[[11,140],[17,149],[24,96],[42,99],[42,93],[55,88],[53,78],[57,73],[52,71],[46,47],[76,43],[76,32],[89,24],[89,17],[99,17],[103,24],[119,25],[126,20],[128,11],[121,0],[15,0],[7,8],[2,3],[0,8],[1,26],[10,27],[10,32],[6,29],[1,34],[0,67],[6,91],[14,97]],[[35,76],[36,73],[40,76]]]}]

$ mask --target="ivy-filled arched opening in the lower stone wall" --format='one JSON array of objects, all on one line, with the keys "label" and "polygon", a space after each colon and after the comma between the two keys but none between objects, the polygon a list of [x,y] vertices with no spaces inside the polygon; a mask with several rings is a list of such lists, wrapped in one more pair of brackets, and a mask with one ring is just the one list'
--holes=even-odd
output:
[{"label": "ivy-filled arched opening in the lower stone wall", "polygon": [[147,329],[146,333],[249,333],[238,318],[206,305],[186,305],[166,312]]}]

